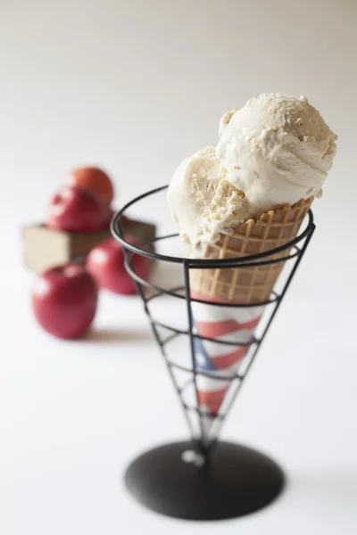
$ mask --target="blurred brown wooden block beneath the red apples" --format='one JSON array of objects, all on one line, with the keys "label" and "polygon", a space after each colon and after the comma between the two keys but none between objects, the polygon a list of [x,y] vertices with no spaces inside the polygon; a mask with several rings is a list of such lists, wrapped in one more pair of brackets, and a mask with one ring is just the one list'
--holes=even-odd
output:
[{"label": "blurred brown wooden block beneath the red apples", "polygon": [[[135,235],[142,243],[154,241],[156,227],[144,221],[128,220],[123,224],[125,234]],[[29,225],[22,229],[24,261],[37,273],[44,269],[85,259],[97,243],[111,236],[109,228],[93,233],[52,230],[45,225]]]}]

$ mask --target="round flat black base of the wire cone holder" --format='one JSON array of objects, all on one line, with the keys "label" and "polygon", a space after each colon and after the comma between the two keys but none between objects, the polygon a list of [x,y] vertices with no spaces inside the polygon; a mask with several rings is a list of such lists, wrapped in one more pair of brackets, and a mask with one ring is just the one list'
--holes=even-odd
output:
[{"label": "round flat black base of the wire cone holder", "polygon": [[125,474],[131,494],[157,513],[187,520],[221,520],[268,506],[284,487],[284,474],[254,449],[218,442],[199,466],[192,442],[175,442],[137,457]]}]

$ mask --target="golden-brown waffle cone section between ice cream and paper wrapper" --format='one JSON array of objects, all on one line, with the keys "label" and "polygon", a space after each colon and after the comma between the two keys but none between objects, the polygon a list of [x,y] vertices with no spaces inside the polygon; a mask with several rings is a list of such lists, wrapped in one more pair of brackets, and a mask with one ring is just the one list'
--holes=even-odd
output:
[{"label": "golden-brown waffle cone section between ice cream and paper wrapper", "polygon": [[[293,206],[286,204],[262,214],[259,220],[249,219],[237,226],[231,235],[220,235],[220,241],[206,247],[205,259],[232,259],[270,251],[294,240],[314,197]],[[267,259],[288,256],[290,249],[270,255]],[[249,268],[191,269],[191,290],[209,300],[237,303],[262,303],[270,293],[285,262]]]}]

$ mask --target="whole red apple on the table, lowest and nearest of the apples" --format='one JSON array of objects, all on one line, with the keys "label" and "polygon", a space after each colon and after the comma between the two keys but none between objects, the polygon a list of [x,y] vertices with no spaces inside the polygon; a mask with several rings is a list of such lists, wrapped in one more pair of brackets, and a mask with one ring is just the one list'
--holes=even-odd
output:
[{"label": "whole red apple on the table, lowest and nearest of the apples", "polygon": [[95,279],[80,264],[47,269],[37,278],[32,308],[47,333],[76,338],[95,317],[98,289]]}]

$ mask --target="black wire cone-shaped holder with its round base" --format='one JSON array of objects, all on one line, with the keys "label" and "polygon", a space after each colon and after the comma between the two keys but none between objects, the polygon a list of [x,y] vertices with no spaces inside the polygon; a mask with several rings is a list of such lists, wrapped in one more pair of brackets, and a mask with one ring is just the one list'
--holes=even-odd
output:
[{"label": "black wire cone-shaped holder with its round base", "polygon": [[[130,466],[125,476],[129,491],[143,505],[162,514],[192,520],[217,520],[253,513],[267,506],[277,498],[284,487],[285,477],[282,470],[269,457],[253,449],[218,440],[222,425],[233,406],[253,361],[261,347],[271,322],[299,266],[303,253],[314,232],[313,216],[309,210],[307,225],[300,230],[294,240],[270,251],[234,259],[191,259],[163,255],[154,252],[154,243],[164,242],[178,236],[177,233],[156,237],[152,243],[139,246],[129,243],[123,234],[120,218],[132,205],[143,199],[161,193],[166,186],[140,195],[129,202],[112,219],[112,235],[123,245],[126,268],[137,285],[145,313],[152,325],[154,337],[159,344],[162,356],[168,367],[172,382],[179,394],[179,400],[187,420],[191,440],[164,445],[152,449],[138,457]],[[286,251],[286,256],[277,258],[277,253]],[[183,269],[184,284],[170,289],[153,284],[141,276],[132,262],[133,254],[154,259],[156,262],[179,264]],[[193,299],[190,289],[190,271],[192,269],[245,269],[258,266],[270,266],[282,262],[288,268],[286,280],[279,292],[273,291],[265,302],[241,304],[212,302],[211,300]],[[281,276],[280,276],[281,277]],[[178,300],[185,300],[187,305],[188,328],[178,328],[166,322],[157,321],[150,312],[149,304],[159,297],[168,295]],[[195,331],[193,305],[202,303],[210,307],[224,309],[247,309],[264,306],[264,321],[261,320],[259,335],[245,342],[229,341],[203,336]],[[163,337],[162,331],[170,333]],[[189,339],[190,366],[173,361],[168,356],[170,343],[180,337]],[[228,372],[206,371],[197,366],[195,346],[200,342],[226,344],[232,349],[239,346],[249,348],[242,359],[244,370],[228,368]],[[179,383],[176,373],[188,375]],[[200,405],[197,378],[212,378],[228,383],[228,393],[218,411],[210,412]],[[194,403],[187,402],[185,392],[194,387]],[[198,418],[193,424],[192,416]],[[208,428],[208,431],[207,431]]]}]

